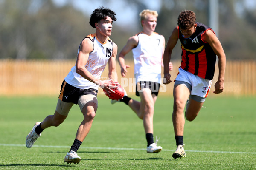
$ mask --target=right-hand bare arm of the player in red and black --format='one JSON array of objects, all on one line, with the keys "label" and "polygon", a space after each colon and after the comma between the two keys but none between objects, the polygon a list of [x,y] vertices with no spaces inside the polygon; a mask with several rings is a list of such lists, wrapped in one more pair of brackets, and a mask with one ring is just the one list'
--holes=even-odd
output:
[{"label": "right-hand bare arm of the player in red and black", "polygon": [[215,54],[218,56],[218,67],[219,67],[219,75],[218,75],[218,81],[215,83],[215,91],[213,93],[219,94],[223,92],[224,89],[224,75],[225,75],[225,67],[226,67],[226,55],[224,53],[224,50],[221,46],[221,42],[218,40],[216,35],[213,33],[213,31],[208,30],[205,32],[205,34],[202,35],[202,40],[204,42],[209,43],[209,45],[212,47]]}]

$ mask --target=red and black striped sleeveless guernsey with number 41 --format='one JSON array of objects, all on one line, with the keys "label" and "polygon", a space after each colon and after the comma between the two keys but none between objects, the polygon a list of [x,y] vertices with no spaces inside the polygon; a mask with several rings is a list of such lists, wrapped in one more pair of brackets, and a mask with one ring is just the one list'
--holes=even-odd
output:
[{"label": "red and black striped sleeveless guernsey with number 41", "polygon": [[202,23],[196,23],[195,33],[189,38],[184,38],[179,28],[179,39],[182,49],[181,68],[204,79],[212,80],[216,54],[211,46],[201,38],[207,30],[212,30],[212,28]]}]

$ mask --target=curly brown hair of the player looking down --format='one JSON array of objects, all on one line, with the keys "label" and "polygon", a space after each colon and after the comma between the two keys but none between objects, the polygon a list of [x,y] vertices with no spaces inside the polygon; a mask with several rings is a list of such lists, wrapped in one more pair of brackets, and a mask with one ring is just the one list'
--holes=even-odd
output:
[{"label": "curly brown hair of the player looking down", "polygon": [[180,29],[186,30],[194,26],[195,24],[195,12],[193,11],[181,11],[178,17],[178,26]]}]

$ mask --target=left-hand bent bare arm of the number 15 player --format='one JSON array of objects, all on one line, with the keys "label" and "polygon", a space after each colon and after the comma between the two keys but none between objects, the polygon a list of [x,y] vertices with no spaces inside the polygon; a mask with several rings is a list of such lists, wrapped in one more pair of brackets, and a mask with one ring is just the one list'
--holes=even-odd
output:
[{"label": "left-hand bent bare arm of the number 15 player", "polygon": [[87,79],[97,85],[101,85],[101,80],[94,77],[84,66],[87,63],[89,53],[93,51],[93,42],[89,38],[85,38],[80,45],[79,53],[76,59],[76,72],[84,79]]}]

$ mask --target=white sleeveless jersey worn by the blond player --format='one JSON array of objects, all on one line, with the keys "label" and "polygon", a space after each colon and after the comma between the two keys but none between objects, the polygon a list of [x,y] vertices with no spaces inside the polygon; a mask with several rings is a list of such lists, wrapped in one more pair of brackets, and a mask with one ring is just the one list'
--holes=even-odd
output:
[{"label": "white sleeveless jersey worn by the blond player", "polygon": [[136,82],[150,81],[161,83],[163,38],[155,32],[151,36],[143,32],[137,35],[139,43],[137,47],[132,49]]}]

